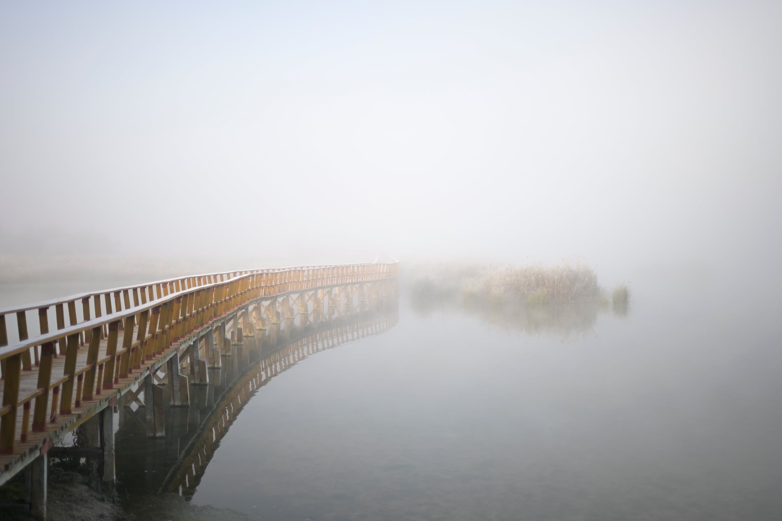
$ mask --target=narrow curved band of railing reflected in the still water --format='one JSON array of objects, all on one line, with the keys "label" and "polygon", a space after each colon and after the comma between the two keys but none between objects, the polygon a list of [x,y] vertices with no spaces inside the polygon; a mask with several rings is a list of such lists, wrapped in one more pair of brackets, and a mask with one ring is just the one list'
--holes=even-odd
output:
[{"label": "narrow curved band of railing reflected in the still water", "polygon": [[262,355],[252,369],[244,373],[224,392],[214,405],[210,416],[199,426],[198,434],[185,447],[179,462],[170,470],[160,492],[178,492],[192,497],[195,486],[206,471],[218,444],[254,391],[265,385],[274,376],[307,358],[309,355],[335,348],[374,334],[380,334],[393,327],[399,316],[394,309],[385,315],[364,312],[355,315],[350,323],[316,330],[268,355]]}]

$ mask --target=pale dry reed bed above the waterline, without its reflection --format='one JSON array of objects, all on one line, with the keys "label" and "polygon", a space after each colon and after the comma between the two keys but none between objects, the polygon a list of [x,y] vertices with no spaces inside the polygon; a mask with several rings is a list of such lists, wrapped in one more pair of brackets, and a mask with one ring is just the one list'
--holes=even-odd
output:
[{"label": "pale dry reed bed above the waterline, without its reflection", "polygon": [[465,301],[487,299],[529,304],[604,301],[597,274],[583,262],[557,266],[490,264],[439,264],[412,270],[413,288],[419,294],[445,297],[461,293]]}]

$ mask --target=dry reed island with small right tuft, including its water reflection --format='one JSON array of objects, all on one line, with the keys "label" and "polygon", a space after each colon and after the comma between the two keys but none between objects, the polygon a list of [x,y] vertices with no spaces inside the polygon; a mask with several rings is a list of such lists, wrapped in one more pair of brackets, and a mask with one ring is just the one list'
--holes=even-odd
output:
[{"label": "dry reed island with small right tuft, including its water reflection", "polygon": [[627,316],[630,285],[611,291],[584,262],[554,266],[489,263],[429,263],[410,266],[404,278],[414,307],[427,312],[438,305],[459,305],[488,322],[537,334],[586,332],[599,312]]}]

